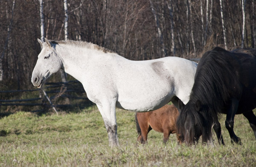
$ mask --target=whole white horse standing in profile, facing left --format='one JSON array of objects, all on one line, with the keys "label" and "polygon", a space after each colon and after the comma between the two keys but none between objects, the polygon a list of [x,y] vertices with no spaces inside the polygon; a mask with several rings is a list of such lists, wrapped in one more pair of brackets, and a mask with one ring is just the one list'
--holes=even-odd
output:
[{"label": "whole white horse standing in profile, facing left", "polygon": [[52,73],[63,69],[80,81],[87,97],[102,115],[109,145],[119,145],[116,107],[146,112],[172,101],[186,104],[194,84],[197,63],[177,57],[132,61],[92,43],[52,41],[42,50],[32,73],[34,86],[41,87]]}]

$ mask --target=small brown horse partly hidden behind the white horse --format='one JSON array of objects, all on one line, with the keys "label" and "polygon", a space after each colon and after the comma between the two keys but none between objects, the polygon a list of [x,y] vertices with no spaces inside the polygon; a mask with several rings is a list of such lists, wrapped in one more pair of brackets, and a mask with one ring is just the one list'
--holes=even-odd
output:
[{"label": "small brown horse partly hidden behind the white horse", "polygon": [[142,144],[147,143],[148,132],[155,130],[163,133],[163,143],[169,140],[171,133],[177,134],[176,120],[179,115],[178,109],[174,105],[165,105],[160,109],[151,112],[137,112],[135,114],[136,127],[138,132],[137,141]]}]

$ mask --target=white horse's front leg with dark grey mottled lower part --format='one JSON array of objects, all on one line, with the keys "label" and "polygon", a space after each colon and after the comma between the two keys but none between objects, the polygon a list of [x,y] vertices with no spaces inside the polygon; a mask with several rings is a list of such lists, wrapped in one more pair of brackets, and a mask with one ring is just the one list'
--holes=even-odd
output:
[{"label": "white horse's front leg with dark grey mottled lower part", "polygon": [[99,112],[105,123],[108,132],[109,146],[119,146],[117,138],[117,124],[116,124],[116,103],[97,104]]}]

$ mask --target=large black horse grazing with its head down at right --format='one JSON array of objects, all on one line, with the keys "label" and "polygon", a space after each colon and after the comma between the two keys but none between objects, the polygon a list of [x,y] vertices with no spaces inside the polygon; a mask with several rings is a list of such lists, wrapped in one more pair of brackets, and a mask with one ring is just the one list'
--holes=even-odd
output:
[{"label": "large black horse grazing with its head down at right", "polygon": [[196,144],[212,142],[212,127],[218,143],[224,144],[218,113],[227,114],[225,126],[231,142],[241,144],[233,131],[234,117],[243,114],[256,138],[256,49],[231,52],[216,47],[206,52],[198,63],[189,102],[177,119],[181,141]]}]

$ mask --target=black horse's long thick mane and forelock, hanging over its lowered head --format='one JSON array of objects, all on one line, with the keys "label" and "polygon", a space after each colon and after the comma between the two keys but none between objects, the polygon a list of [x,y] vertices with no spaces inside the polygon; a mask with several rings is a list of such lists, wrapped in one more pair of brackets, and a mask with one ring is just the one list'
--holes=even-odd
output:
[{"label": "black horse's long thick mane and forelock, hanging over its lowered head", "polygon": [[[190,100],[177,120],[179,132],[184,131],[185,119],[191,118],[192,123],[197,124],[198,130],[201,130],[197,133],[202,135],[202,141],[210,140],[212,126],[214,121],[218,120],[218,112],[221,112],[229,103],[230,93],[232,93],[230,86],[239,88],[236,77],[236,71],[238,72],[239,69],[234,70],[234,65],[238,64],[239,60],[235,57],[230,63],[230,57],[233,54],[216,47],[202,56],[195,74]],[[195,132],[192,133],[195,134]]]}]

